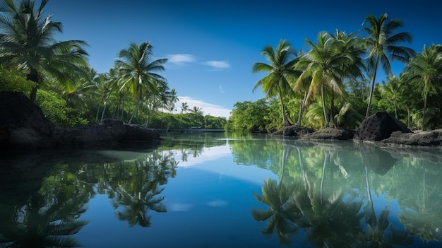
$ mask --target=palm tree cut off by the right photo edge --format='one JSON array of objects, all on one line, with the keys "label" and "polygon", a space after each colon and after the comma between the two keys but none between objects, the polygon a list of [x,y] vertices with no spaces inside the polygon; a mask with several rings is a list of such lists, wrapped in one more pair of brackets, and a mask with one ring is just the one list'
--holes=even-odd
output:
[{"label": "palm tree cut off by the right photo edge", "polygon": [[442,46],[430,45],[416,55],[405,67],[410,75],[410,81],[422,84],[420,91],[424,97],[424,110],[422,110],[422,127],[425,128],[426,104],[429,95],[436,93],[442,77]]}]

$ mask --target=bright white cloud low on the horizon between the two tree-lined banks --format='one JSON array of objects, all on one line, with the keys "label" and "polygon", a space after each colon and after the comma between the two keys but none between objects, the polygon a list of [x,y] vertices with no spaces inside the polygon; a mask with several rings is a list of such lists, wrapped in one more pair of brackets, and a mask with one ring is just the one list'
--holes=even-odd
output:
[{"label": "bright white cloud low on the horizon between the two tree-lined banks", "polygon": [[200,100],[195,100],[191,97],[187,97],[187,96],[179,96],[178,97],[178,102],[175,103],[175,110],[174,113],[179,113],[181,112],[181,104],[183,102],[187,102],[187,106],[189,107],[189,109],[193,109],[193,107],[199,107],[201,108],[201,111],[203,111],[204,115],[210,114],[214,117],[226,117],[229,118],[230,116],[230,112],[232,110],[226,109],[224,107],[218,106],[218,105],[214,105],[208,102],[203,102]]}]

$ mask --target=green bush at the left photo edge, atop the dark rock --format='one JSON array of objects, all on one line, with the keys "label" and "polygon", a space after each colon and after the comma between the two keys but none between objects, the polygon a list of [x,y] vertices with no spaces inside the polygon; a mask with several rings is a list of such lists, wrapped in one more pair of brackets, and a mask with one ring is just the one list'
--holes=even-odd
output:
[{"label": "green bush at the left photo edge, atop the dark rock", "polygon": [[0,92],[23,92],[29,95],[32,87],[35,87],[35,83],[26,80],[26,76],[20,71],[0,69]]}]

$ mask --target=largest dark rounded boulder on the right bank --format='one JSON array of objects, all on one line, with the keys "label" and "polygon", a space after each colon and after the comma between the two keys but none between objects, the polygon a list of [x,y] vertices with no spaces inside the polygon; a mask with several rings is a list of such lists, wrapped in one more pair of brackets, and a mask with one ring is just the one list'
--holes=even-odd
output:
[{"label": "largest dark rounded boulder on the right bank", "polygon": [[395,131],[401,133],[412,132],[405,124],[391,117],[387,112],[377,112],[364,119],[353,138],[357,141],[382,141],[390,137]]}]

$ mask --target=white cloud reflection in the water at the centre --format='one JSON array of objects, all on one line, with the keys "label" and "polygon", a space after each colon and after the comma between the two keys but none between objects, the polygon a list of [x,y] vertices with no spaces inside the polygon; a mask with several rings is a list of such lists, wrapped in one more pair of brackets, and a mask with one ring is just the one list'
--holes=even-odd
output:
[{"label": "white cloud reflection in the water at the centre", "polygon": [[[232,155],[229,146],[214,146],[210,148],[203,148],[201,156],[189,156],[186,161],[179,161],[178,167],[189,167],[191,165],[198,165],[207,163],[211,160],[217,160],[227,155]],[[176,153],[176,160],[181,160],[181,151]]]}]

